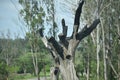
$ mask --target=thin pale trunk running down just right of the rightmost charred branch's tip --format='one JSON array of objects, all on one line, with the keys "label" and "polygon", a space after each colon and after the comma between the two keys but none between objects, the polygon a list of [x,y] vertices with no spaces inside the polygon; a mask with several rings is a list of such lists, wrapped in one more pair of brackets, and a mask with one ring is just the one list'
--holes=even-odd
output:
[{"label": "thin pale trunk running down just right of the rightmost charred branch's tip", "polygon": [[105,53],[105,32],[104,32],[102,20],[101,20],[101,26],[102,26],[102,39],[103,39],[104,80],[108,80],[108,78],[107,78],[107,60],[106,60],[106,53]]}]

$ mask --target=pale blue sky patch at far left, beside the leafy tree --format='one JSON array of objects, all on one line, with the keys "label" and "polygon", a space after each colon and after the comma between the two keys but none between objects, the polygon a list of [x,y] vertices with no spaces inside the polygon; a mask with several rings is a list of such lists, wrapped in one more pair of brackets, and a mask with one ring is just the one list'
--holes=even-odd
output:
[{"label": "pale blue sky patch at far left, beside the leafy tree", "polygon": [[19,21],[19,10],[21,5],[18,3],[18,0],[0,0],[0,37],[1,33],[5,35],[10,31],[11,38],[14,38],[15,35],[23,38],[24,25]]}]

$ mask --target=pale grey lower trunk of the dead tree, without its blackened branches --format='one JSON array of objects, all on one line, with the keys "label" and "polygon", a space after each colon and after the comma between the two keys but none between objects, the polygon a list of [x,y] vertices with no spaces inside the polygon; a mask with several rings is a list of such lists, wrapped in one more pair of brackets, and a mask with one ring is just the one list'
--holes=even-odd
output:
[{"label": "pale grey lower trunk of the dead tree, without its blackened branches", "polygon": [[[76,70],[74,67],[74,56],[76,45],[78,45],[79,41],[70,40],[68,49],[63,49],[65,54],[64,60],[62,58],[56,58],[55,67],[52,69],[52,80],[59,80],[59,73],[62,80],[79,80],[76,75]],[[58,59],[58,60],[57,60]]]}]

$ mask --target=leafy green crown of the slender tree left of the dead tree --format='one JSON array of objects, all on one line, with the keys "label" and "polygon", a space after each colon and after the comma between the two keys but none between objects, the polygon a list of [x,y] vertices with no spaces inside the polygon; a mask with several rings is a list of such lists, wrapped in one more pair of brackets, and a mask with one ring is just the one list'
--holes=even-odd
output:
[{"label": "leafy green crown of the slender tree left of the dead tree", "polygon": [[45,12],[39,1],[24,1],[19,0],[19,3],[24,9],[20,11],[21,16],[27,23],[30,30],[37,30],[38,27],[44,27]]}]

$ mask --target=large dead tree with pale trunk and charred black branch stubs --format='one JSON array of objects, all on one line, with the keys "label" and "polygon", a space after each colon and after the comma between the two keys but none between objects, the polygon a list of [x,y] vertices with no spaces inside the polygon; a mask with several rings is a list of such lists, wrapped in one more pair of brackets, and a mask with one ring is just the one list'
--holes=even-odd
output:
[{"label": "large dead tree with pale trunk and charred black branch stubs", "polygon": [[64,19],[62,19],[63,31],[58,35],[59,42],[54,37],[50,37],[49,39],[44,37],[42,29],[39,30],[43,43],[49,49],[55,61],[54,69],[51,71],[53,72],[52,80],[58,80],[59,73],[61,73],[63,80],[79,80],[74,68],[75,50],[80,41],[88,36],[100,23],[100,20],[96,19],[89,27],[85,26],[80,32],[78,31],[83,4],[84,0],[79,3],[76,10],[73,33],[70,37],[67,37],[68,27]]}]

